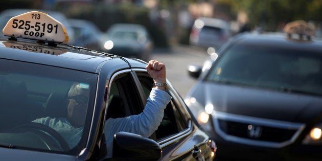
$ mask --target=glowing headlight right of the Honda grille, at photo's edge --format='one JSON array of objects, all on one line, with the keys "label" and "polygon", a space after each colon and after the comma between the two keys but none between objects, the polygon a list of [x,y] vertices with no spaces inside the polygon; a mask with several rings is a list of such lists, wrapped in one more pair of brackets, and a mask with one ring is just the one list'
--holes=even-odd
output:
[{"label": "glowing headlight right of the Honda grille, at photo's edge", "polygon": [[322,144],[322,123],[314,126],[305,136],[303,144]]}]

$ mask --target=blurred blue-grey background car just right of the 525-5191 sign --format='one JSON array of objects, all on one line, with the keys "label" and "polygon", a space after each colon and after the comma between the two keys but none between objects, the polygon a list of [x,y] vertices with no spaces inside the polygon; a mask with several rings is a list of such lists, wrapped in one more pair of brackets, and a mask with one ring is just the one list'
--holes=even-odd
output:
[{"label": "blurred blue-grey background car just right of the 525-5191 sign", "polygon": [[91,21],[85,19],[68,19],[74,31],[75,46],[91,50],[101,50],[103,32]]}]

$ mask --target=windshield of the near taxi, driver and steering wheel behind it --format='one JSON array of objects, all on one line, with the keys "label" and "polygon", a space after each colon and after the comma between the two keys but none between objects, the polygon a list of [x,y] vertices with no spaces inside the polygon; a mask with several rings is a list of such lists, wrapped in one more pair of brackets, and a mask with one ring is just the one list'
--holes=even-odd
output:
[{"label": "windshield of the near taxi, driver and steering wheel behind it", "polygon": [[[78,154],[87,141],[96,82],[91,73],[0,59],[0,146]],[[84,108],[70,109],[72,103]]]}]

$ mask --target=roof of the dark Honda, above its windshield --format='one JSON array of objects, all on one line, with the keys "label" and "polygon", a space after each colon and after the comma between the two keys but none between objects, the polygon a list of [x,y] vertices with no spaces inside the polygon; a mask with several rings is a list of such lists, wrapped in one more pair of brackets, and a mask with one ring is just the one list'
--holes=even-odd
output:
[{"label": "roof of the dark Honda, above its windshield", "polygon": [[[322,41],[301,40],[297,38],[288,38],[285,33],[242,33],[236,35],[229,43],[245,45],[264,45],[271,48],[285,48],[303,51],[315,51],[322,53]],[[226,47],[226,45],[225,45]]]}]

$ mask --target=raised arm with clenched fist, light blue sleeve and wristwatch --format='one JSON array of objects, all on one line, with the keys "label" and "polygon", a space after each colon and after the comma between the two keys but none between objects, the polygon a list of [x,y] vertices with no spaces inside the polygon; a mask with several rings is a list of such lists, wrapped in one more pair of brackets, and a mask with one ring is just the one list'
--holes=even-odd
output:
[{"label": "raised arm with clenched fist, light blue sleeve and wristwatch", "polygon": [[[147,64],[146,69],[155,83],[166,83],[165,64],[156,60],[151,60]],[[155,86],[151,90],[150,96],[141,114],[121,119],[108,119],[107,124],[111,121],[113,122],[108,129],[115,132],[127,131],[143,136],[151,135],[162,121],[164,109],[171,99],[165,90],[166,88],[163,86]]]}]

